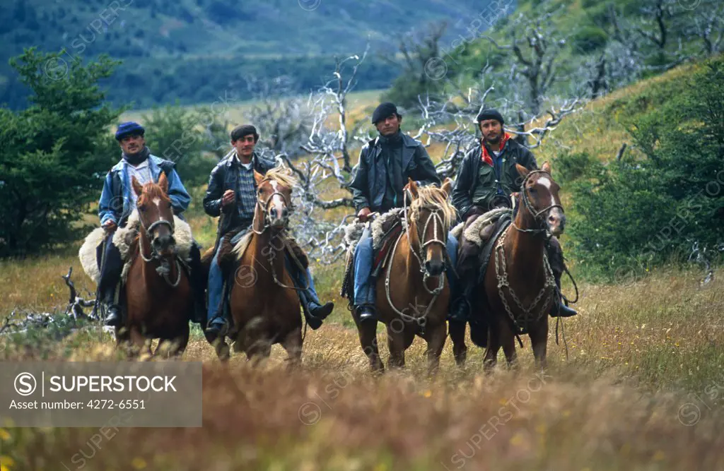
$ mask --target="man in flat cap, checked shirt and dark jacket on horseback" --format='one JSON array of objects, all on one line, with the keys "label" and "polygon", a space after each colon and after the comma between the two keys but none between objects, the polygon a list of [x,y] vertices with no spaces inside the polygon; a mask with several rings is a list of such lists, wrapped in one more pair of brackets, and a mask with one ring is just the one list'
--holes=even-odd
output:
[{"label": "man in flat cap, checked shirt and dark jacket on horseback", "polygon": [[[209,187],[203,198],[203,209],[209,216],[222,216],[217,228],[219,241],[229,232],[246,232],[251,228],[257,199],[254,171],[266,174],[266,171],[274,167],[274,162],[259,156],[254,150],[259,135],[251,124],[235,127],[230,137],[234,149],[211,171]],[[221,250],[222,244],[217,242],[217,246],[214,247],[214,258],[209,267],[209,307],[206,327],[209,339],[215,339],[222,334],[227,326],[223,313],[222,293],[225,273],[222,273],[222,267],[219,266]],[[319,328],[324,318],[332,313],[334,303],[327,302],[321,305],[309,269],[307,268],[306,273],[300,270],[292,260],[289,260],[288,255],[285,261],[295,287],[299,289],[299,299],[304,307],[307,323],[311,328]],[[309,287],[304,290],[307,281]],[[273,295],[269,293],[269,296]]]}]

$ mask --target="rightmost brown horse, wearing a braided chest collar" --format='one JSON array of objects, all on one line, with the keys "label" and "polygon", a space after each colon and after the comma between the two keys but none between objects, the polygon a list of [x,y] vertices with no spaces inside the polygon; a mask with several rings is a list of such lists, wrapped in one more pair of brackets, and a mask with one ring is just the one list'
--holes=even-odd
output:
[{"label": "rightmost brown horse, wearing a braided chest collar", "polygon": [[536,367],[545,368],[548,313],[556,300],[545,244],[549,234],[558,237],[565,226],[560,187],[547,162],[540,170],[515,167],[523,177],[515,195],[517,213],[495,243],[481,286],[489,306],[487,371],[496,364],[500,347],[508,365],[514,364],[515,338],[523,334],[531,339]]}]

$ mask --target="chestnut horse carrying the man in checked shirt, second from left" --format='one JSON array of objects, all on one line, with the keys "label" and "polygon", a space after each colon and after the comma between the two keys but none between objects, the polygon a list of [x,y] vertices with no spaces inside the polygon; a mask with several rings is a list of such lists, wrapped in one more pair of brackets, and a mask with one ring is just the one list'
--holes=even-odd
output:
[{"label": "chestnut horse carrying the man in checked shirt, second from left", "polygon": [[229,295],[234,325],[213,344],[222,361],[230,356],[225,336],[249,360],[269,357],[271,346],[282,344],[294,367],[302,354],[302,318],[299,295],[285,268],[294,181],[277,169],[265,175],[254,171],[254,179],[257,200],[252,232],[240,258],[234,250],[237,261]]}]

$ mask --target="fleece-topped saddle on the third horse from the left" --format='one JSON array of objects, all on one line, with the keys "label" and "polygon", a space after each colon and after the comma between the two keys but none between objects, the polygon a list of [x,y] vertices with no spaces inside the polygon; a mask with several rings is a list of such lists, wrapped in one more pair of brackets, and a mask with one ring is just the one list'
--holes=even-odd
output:
[{"label": "fleece-topped saddle on the third horse from the left", "polygon": [[[390,254],[392,246],[395,244],[395,240],[405,230],[405,220],[403,214],[405,208],[392,208],[387,213],[383,213],[370,224],[370,230],[372,233],[372,250],[373,250],[373,262],[372,262],[372,276],[379,276],[379,273],[385,267],[385,260],[387,255]],[[353,295],[354,290],[354,256],[355,249],[358,242],[362,237],[365,224],[355,221],[345,227],[344,245],[347,250],[347,258],[345,260],[345,275],[342,277],[342,289],[340,290],[340,296],[346,297],[350,300],[350,305],[354,303]]]}]

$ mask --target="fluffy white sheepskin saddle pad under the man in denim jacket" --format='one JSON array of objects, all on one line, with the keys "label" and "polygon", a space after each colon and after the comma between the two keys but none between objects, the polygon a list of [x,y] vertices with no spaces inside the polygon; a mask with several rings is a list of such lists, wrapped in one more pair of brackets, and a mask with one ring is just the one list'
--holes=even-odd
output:
[{"label": "fluffy white sheepskin saddle pad under the man in denim jacket", "polygon": [[[124,283],[132,260],[130,248],[135,238],[138,237],[139,227],[138,210],[134,209],[130,216],[128,216],[125,227],[116,229],[111,240],[111,243],[118,247],[118,251],[121,253],[121,260],[123,260],[121,279]],[[105,230],[102,227],[97,227],[85,237],[85,241],[83,241],[83,245],[80,246],[80,250],[78,251],[78,258],[80,259],[80,265],[83,266],[83,271],[85,271],[85,274],[96,284],[101,280],[100,257],[102,254],[99,247],[103,244],[105,238]],[[174,239],[176,239],[177,256],[188,263],[190,261],[191,247],[194,243],[193,234],[191,234],[191,227],[188,223],[175,215]]]}]

